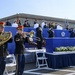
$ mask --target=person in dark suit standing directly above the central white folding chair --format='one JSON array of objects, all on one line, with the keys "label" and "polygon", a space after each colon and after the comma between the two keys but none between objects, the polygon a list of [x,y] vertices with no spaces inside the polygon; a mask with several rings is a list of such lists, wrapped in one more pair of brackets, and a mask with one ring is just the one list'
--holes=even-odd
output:
[{"label": "person in dark suit standing directly above the central white folding chair", "polygon": [[40,24],[39,24],[39,27],[36,28],[36,37],[40,39],[40,40],[37,40],[37,48],[42,49],[43,37],[42,37],[42,28]]}]

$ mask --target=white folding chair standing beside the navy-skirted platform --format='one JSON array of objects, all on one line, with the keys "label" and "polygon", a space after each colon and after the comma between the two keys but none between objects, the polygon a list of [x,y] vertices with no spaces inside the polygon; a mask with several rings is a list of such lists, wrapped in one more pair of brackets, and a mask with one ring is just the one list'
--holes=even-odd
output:
[{"label": "white folding chair standing beside the navy-skirted platform", "polygon": [[44,50],[36,51],[36,67],[41,68],[44,66],[48,68],[47,58]]}]

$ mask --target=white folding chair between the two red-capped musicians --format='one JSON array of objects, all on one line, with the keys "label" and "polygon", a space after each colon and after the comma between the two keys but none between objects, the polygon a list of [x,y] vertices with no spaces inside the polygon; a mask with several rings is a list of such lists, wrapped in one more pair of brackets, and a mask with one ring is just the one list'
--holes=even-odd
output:
[{"label": "white folding chair between the two red-capped musicians", "polygon": [[14,54],[10,54],[6,57],[8,63],[6,63],[4,75],[14,75],[16,70],[16,59]]}]

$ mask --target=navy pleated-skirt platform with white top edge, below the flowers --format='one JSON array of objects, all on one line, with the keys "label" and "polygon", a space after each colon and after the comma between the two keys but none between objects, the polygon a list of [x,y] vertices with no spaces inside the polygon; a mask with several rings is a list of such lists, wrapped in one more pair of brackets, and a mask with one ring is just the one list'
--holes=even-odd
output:
[{"label": "navy pleated-skirt platform with white top edge, below the flowers", "polygon": [[75,51],[46,53],[50,68],[75,66]]}]

